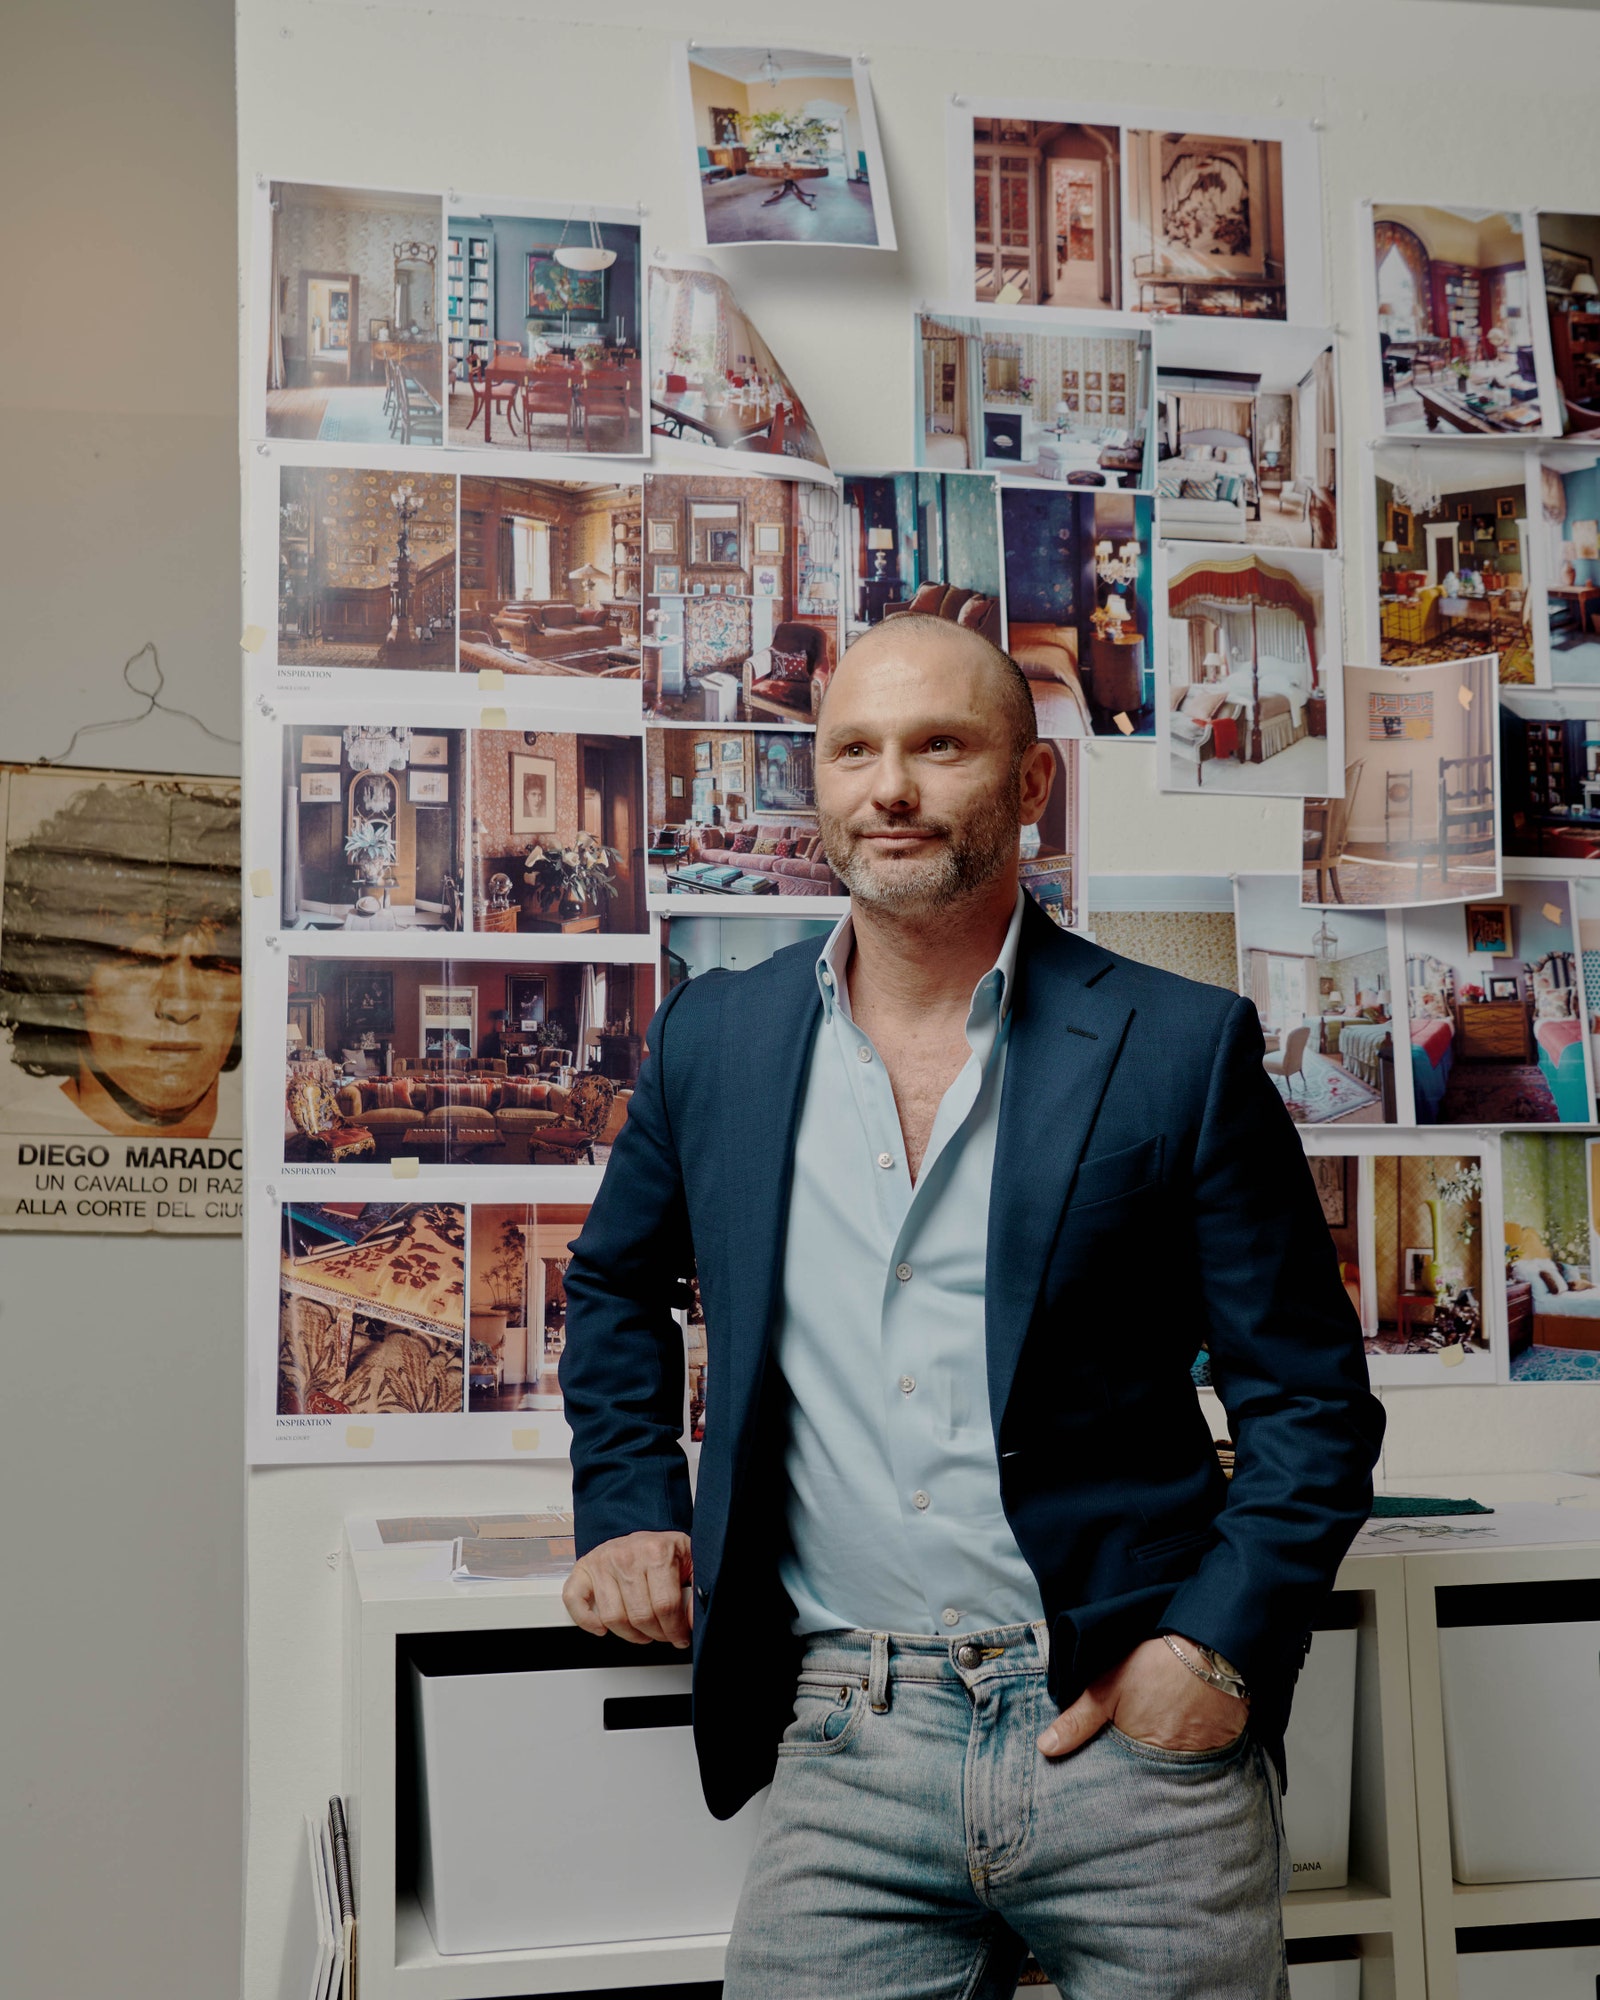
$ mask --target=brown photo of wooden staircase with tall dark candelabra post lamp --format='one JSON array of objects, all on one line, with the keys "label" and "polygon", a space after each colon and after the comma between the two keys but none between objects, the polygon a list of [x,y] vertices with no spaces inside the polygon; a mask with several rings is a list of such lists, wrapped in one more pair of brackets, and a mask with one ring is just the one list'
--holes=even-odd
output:
[{"label": "brown photo of wooden staircase with tall dark candelabra post lamp", "polygon": [[454,668],[452,478],[278,472],[278,664]]}]

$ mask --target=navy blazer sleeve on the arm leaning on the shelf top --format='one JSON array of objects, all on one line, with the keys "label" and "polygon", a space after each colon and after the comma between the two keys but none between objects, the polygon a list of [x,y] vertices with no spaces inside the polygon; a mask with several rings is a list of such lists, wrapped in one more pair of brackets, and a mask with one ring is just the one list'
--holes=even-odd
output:
[{"label": "navy blazer sleeve on the arm leaning on the shelf top", "polygon": [[666,1106],[670,1018],[656,1008],[628,1120],[566,1266],[562,1402],[578,1554],[640,1528],[688,1528],[684,1334],[694,1252]]}]

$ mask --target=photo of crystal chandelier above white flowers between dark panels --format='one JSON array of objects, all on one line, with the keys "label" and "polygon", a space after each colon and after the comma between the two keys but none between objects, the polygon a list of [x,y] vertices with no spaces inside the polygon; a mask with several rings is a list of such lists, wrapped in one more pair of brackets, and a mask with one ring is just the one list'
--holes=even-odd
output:
[{"label": "photo of crystal chandelier above white flowers between dark panels", "polygon": [[464,732],[290,722],[284,930],[460,930]]}]

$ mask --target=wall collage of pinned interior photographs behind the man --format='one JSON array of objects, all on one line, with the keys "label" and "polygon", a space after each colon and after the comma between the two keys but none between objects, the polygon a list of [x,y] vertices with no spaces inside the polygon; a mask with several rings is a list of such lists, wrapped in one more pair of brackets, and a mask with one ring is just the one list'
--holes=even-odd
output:
[{"label": "wall collage of pinned interior photographs behind the man", "polygon": [[[960,100],[904,454],[840,464],[704,252],[894,248],[866,66],[688,44],[676,84],[690,250],[260,190],[256,1456],[564,1452],[654,1006],[848,908],[820,716],[906,616],[1028,680],[1044,912],[1252,1002],[1374,1380],[1600,1378],[1600,216],[1376,190],[1350,460],[1308,124]],[[1092,776],[1196,828],[1294,800],[1298,848],[1116,872]],[[692,1308],[688,1442],[704,1388]]]}]

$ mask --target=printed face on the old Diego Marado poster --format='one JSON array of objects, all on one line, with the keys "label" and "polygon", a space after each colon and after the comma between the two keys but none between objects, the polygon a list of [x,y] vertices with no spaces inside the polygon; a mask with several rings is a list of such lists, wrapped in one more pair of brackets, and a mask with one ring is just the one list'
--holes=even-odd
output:
[{"label": "printed face on the old Diego Marado poster", "polygon": [[216,1082],[240,1008],[240,968],[208,928],[150,934],[96,968],[84,994],[90,1066],[144,1110],[176,1118]]}]

